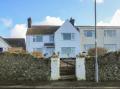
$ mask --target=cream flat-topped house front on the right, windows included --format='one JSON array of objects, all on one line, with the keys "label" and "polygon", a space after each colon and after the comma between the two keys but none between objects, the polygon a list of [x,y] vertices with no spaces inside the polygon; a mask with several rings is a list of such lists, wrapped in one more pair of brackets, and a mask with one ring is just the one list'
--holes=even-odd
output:
[{"label": "cream flat-topped house front on the right, windows included", "polygon": [[[80,49],[87,52],[95,47],[94,26],[78,26],[80,29]],[[97,26],[97,47],[108,51],[120,50],[120,27],[119,26]]]}]

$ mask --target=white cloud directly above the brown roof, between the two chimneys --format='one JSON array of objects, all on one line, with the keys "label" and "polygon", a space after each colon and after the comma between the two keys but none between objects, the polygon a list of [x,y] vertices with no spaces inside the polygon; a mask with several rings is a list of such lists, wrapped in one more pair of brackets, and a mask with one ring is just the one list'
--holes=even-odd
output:
[{"label": "white cloud directly above the brown roof, between the two chimneys", "polygon": [[60,17],[51,17],[51,16],[46,16],[46,18],[39,22],[38,24],[41,25],[62,25],[64,23],[63,20],[61,20]]}]

